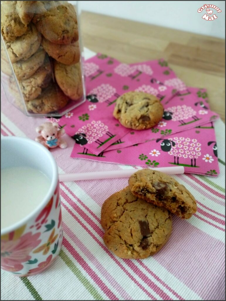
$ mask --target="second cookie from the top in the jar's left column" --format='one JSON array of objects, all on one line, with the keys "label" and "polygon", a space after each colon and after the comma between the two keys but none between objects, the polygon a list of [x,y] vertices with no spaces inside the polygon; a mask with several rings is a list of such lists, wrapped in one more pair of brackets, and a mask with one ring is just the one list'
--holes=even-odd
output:
[{"label": "second cookie from the top in the jar's left column", "polygon": [[5,41],[6,49],[12,63],[19,60],[27,60],[38,50],[40,44],[41,34],[35,28],[34,24],[29,25],[27,32],[15,41]]}]

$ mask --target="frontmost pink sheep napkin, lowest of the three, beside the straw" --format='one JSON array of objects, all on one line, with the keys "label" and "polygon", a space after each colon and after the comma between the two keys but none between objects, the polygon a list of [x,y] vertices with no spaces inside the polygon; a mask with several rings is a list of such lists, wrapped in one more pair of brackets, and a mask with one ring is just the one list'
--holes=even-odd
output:
[{"label": "frontmost pink sheep napkin, lowest of the three, beside the straw", "polygon": [[137,165],[142,167],[184,166],[185,172],[217,176],[217,145],[213,123],[142,144],[102,152],[99,156],[74,146],[72,158]]}]

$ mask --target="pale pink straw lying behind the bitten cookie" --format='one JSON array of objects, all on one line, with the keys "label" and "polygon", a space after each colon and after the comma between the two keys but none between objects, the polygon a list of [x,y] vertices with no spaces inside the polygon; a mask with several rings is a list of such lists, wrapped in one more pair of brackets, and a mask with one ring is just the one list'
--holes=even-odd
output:
[{"label": "pale pink straw lying behind the bitten cookie", "polygon": [[[184,173],[183,166],[173,166],[173,167],[158,167],[150,168],[155,169],[161,172],[164,172],[168,175],[176,175]],[[97,172],[80,172],[80,173],[65,173],[59,174],[60,182],[71,182],[71,181],[81,181],[81,180],[97,180],[97,179],[110,179],[110,178],[128,178],[136,169],[127,169],[127,170],[109,170],[109,171],[97,171]]]}]

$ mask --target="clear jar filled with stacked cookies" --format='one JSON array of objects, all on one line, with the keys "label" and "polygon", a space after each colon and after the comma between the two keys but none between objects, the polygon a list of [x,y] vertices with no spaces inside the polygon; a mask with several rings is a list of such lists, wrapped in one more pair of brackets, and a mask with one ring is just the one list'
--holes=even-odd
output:
[{"label": "clear jar filled with stacked cookies", "polygon": [[1,82],[28,116],[62,116],[85,101],[77,5],[1,1]]}]

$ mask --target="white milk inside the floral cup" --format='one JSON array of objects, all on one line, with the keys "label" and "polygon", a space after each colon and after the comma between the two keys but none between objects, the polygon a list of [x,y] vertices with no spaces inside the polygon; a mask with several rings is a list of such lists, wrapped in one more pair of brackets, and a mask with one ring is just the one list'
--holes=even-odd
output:
[{"label": "white milk inside the floral cup", "polygon": [[50,179],[31,167],[1,170],[1,229],[35,210],[50,188]]}]

